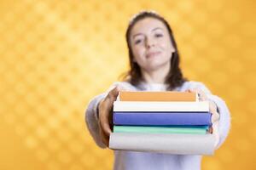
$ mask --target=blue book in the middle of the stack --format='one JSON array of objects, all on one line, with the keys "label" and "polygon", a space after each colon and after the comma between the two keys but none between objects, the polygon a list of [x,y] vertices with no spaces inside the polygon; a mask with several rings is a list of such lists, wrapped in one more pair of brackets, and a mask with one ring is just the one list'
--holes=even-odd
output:
[{"label": "blue book in the middle of the stack", "polygon": [[188,112],[113,112],[114,125],[212,125],[212,114]]}]

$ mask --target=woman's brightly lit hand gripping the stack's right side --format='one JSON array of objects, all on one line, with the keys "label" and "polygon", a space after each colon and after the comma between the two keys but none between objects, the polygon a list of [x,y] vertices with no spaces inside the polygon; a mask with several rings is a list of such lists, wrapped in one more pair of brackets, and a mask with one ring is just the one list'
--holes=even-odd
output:
[{"label": "woman's brightly lit hand gripping the stack's right side", "polygon": [[215,146],[218,144],[219,135],[218,135],[218,121],[219,113],[217,111],[217,105],[210,99],[207,98],[207,95],[201,91],[201,89],[189,89],[187,92],[194,92],[199,94],[199,101],[209,101],[210,112],[212,113],[212,127],[209,128],[209,133],[213,133],[216,136]]}]

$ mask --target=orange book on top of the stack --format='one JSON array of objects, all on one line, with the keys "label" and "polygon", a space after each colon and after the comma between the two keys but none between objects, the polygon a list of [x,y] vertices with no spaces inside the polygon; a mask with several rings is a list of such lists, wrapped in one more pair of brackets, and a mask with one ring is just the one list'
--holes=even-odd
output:
[{"label": "orange book on top of the stack", "polygon": [[119,101],[198,101],[196,93],[189,92],[127,92],[119,93]]}]

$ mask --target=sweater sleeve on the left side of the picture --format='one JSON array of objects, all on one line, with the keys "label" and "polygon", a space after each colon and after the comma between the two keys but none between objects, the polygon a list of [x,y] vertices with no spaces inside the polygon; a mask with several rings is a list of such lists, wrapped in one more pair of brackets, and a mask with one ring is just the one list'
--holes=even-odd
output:
[{"label": "sweater sleeve on the left side of the picture", "polygon": [[96,142],[96,144],[101,148],[106,148],[106,145],[102,143],[102,139],[100,136],[100,128],[98,124],[98,105],[102,99],[104,99],[108,92],[114,87],[119,86],[119,88],[123,90],[135,90],[134,87],[131,86],[128,82],[114,82],[113,85],[108,88],[107,92],[104,94],[99,94],[93,99],[90,100],[84,114],[85,123],[90,132],[90,135]]}]

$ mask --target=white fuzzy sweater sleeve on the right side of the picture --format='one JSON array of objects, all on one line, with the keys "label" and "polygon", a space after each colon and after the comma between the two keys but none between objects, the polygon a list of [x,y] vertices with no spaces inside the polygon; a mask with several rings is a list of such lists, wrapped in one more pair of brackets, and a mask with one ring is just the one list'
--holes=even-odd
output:
[{"label": "white fuzzy sweater sleeve on the right side of the picture", "polygon": [[221,144],[224,143],[224,140],[227,138],[228,133],[230,131],[230,111],[227,105],[225,104],[224,100],[220,99],[216,95],[211,94],[210,90],[203,83],[196,82],[195,88],[201,89],[205,94],[207,94],[207,98],[211,99],[217,105],[217,110],[220,116],[218,122],[218,148],[220,147]]}]

